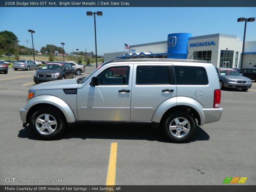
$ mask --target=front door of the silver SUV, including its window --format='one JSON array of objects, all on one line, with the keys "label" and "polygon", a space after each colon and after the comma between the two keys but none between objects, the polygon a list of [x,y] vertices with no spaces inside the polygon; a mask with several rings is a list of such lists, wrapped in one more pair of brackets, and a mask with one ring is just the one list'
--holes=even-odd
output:
[{"label": "front door of the silver SUV, including its window", "polygon": [[[133,64],[119,65],[127,74],[109,73],[113,67],[100,70],[98,86],[87,83],[77,90],[77,112],[79,120],[130,121]],[[112,70],[113,71],[113,70]],[[114,70],[116,71],[116,70]],[[110,75],[109,75],[110,74]],[[112,76],[111,76],[112,75]]]}]

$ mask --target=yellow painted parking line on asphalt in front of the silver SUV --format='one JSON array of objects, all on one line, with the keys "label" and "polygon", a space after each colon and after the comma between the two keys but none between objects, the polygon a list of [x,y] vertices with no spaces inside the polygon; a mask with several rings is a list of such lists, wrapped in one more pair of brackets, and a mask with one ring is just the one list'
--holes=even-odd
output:
[{"label": "yellow painted parking line on asphalt in front of the silver SUV", "polygon": [[111,143],[106,185],[115,185],[117,143]]}]

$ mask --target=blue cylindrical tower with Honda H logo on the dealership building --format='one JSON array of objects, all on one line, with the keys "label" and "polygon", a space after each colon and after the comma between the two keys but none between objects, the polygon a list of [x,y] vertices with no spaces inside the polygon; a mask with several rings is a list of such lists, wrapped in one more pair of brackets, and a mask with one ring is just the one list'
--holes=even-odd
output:
[{"label": "blue cylindrical tower with Honda H logo on the dealership building", "polygon": [[188,55],[188,38],[191,33],[172,33],[168,35],[167,58],[187,59]]}]

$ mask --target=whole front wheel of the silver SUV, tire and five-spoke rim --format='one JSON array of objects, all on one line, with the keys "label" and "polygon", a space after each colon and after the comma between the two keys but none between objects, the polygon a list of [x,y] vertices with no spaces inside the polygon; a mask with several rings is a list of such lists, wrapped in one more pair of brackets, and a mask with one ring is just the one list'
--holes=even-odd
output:
[{"label": "whole front wheel of the silver SUV, tire and five-spoke rim", "polygon": [[65,131],[65,117],[55,108],[39,108],[29,119],[29,127],[43,140],[52,140]]}]

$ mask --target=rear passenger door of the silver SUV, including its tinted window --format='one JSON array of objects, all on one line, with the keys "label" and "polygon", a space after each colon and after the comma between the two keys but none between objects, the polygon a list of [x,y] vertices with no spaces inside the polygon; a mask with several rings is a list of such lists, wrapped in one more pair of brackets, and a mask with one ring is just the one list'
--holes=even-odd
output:
[{"label": "rear passenger door of the silver SUV, including its tinted window", "polygon": [[176,94],[172,66],[134,64],[131,121],[151,121],[157,107],[165,100],[176,97]]}]

